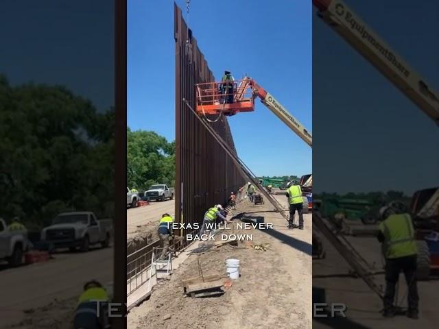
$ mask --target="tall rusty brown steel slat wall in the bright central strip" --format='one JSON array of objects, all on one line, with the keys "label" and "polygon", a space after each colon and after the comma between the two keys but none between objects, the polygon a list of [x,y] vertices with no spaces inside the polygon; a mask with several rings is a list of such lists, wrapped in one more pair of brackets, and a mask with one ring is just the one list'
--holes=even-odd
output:
[{"label": "tall rusty brown steel slat wall in the bright central strip", "polygon": [[[191,35],[187,47],[187,25],[174,3],[176,41],[176,221],[202,223],[204,212],[214,204],[224,204],[230,191],[244,184],[235,163],[193,116],[182,99],[195,108],[195,84],[214,82],[214,77],[198,43]],[[213,128],[235,149],[226,118]],[[178,234],[189,234],[190,229]]]}]

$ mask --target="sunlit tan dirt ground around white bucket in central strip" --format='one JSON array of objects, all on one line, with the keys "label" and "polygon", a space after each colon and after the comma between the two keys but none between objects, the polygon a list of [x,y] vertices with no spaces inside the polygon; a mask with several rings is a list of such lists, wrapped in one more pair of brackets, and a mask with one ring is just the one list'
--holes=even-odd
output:
[{"label": "sunlit tan dirt ground around white bucket in central strip", "polygon": [[[285,196],[276,197],[287,206]],[[222,245],[191,255],[170,280],[157,284],[149,300],[128,314],[128,328],[310,328],[311,327],[311,215],[305,230],[288,230],[285,219],[270,204],[241,202],[236,212],[263,217],[273,230],[233,230],[224,234],[252,234],[238,247]],[[221,234],[222,232],[219,232]],[[266,251],[251,246],[265,244]],[[199,258],[199,259],[197,259]],[[240,260],[240,278],[223,287],[219,297],[187,297],[182,280],[216,274],[226,278],[226,259]]]}]

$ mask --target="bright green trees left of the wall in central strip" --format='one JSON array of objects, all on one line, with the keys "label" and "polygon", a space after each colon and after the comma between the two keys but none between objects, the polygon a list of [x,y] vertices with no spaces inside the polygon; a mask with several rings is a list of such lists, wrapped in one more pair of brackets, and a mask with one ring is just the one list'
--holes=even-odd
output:
[{"label": "bright green trees left of the wall in central strip", "polygon": [[127,182],[146,191],[152,184],[175,186],[176,144],[156,132],[127,128]]}]

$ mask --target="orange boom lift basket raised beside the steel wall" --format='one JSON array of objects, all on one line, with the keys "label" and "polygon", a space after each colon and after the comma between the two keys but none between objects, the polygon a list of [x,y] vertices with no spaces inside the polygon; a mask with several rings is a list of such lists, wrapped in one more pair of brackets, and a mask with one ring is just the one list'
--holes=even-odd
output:
[{"label": "orange boom lift basket raised beside the steel wall", "polygon": [[[234,115],[237,112],[252,112],[254,110],[254,88],[249,77],[237,80],[231,88],[223,88],[223,82],[207,82],[196,84],[198,114]],[[228,103],[233,96],[233,102]]]}]

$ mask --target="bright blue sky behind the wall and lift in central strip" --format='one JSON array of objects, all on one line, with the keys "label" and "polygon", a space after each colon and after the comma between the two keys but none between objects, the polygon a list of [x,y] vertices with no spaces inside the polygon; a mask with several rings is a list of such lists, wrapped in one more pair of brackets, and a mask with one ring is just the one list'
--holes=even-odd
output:
[{"label": "bright blue sky behind the wall and lift in central strip", "polygon": [[[185,12],[185,1],[176,2]],[[217,79],[224,69],[235,79],[247,73],[312,131],[311,1],[192,0],[189,27]],[[174,1],[128,1],[132,130],[174,140],[174,62]],[[311,172],[311,148],[259,101],[229,123],[239,156],[257,175]]]}]

